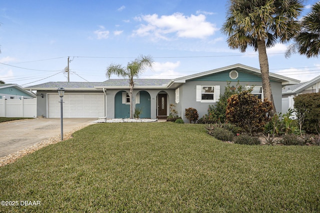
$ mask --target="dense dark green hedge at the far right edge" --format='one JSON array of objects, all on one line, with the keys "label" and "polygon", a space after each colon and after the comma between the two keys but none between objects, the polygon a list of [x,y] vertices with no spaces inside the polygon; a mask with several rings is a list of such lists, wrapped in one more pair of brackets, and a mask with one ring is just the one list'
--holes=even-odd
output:
[{"label": "dense dark green hedge at the far right edge", "polygon": [[320,133],[320,93],[300,94],[294,98],[297,119],[307,133]]}]

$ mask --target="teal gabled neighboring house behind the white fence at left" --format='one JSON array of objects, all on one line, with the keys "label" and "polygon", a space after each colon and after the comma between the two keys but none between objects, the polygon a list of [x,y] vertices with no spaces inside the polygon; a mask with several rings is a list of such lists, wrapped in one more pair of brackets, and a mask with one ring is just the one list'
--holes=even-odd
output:
[{"label": "teal gabled neighboring house behind the white fence at left", "polygon": [[36,98],[33,93],[17,84],[0,84],[0,99],[21,99],[22,96],[28,99]]}]

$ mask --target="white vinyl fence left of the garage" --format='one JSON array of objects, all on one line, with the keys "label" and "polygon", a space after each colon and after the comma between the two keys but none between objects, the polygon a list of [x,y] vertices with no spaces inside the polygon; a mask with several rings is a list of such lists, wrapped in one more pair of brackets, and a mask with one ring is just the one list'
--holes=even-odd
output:
[{"label": "white vinyl fence left of the garage", "polygon": [[0,117],[36,117],[36,99],[0,99]]}]

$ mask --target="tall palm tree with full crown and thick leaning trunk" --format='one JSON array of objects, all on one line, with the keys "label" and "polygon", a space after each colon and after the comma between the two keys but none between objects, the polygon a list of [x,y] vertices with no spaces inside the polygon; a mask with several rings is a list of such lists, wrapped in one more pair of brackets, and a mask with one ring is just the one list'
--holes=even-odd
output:
[{"label": "tall palm tree with full crown and thick leaning trunk", "polygon": [[266,48],[277,41],[285,43],[299,32],[297,17],[302,7],[302,0],[230,0],[221,28],[230,48],[245,52],[247,46],[252,46],[258,51],[263,96],[273,104],[271,116],[276,110]]}]

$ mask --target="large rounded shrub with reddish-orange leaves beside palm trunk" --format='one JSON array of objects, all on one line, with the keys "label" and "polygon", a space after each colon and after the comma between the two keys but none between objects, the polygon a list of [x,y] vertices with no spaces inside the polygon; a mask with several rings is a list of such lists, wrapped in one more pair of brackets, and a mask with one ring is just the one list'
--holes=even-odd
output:
[{"label": "large rounded shrub with reddish-orange leaves beside palm trunk", "polygon": [[250,91],[242,91],[231,95],[227,101],[226,119],[228,122],[243,128],[250,135],[263,130],[267,121],[267,113],[272,109],[272,103],[263,102]]}]

